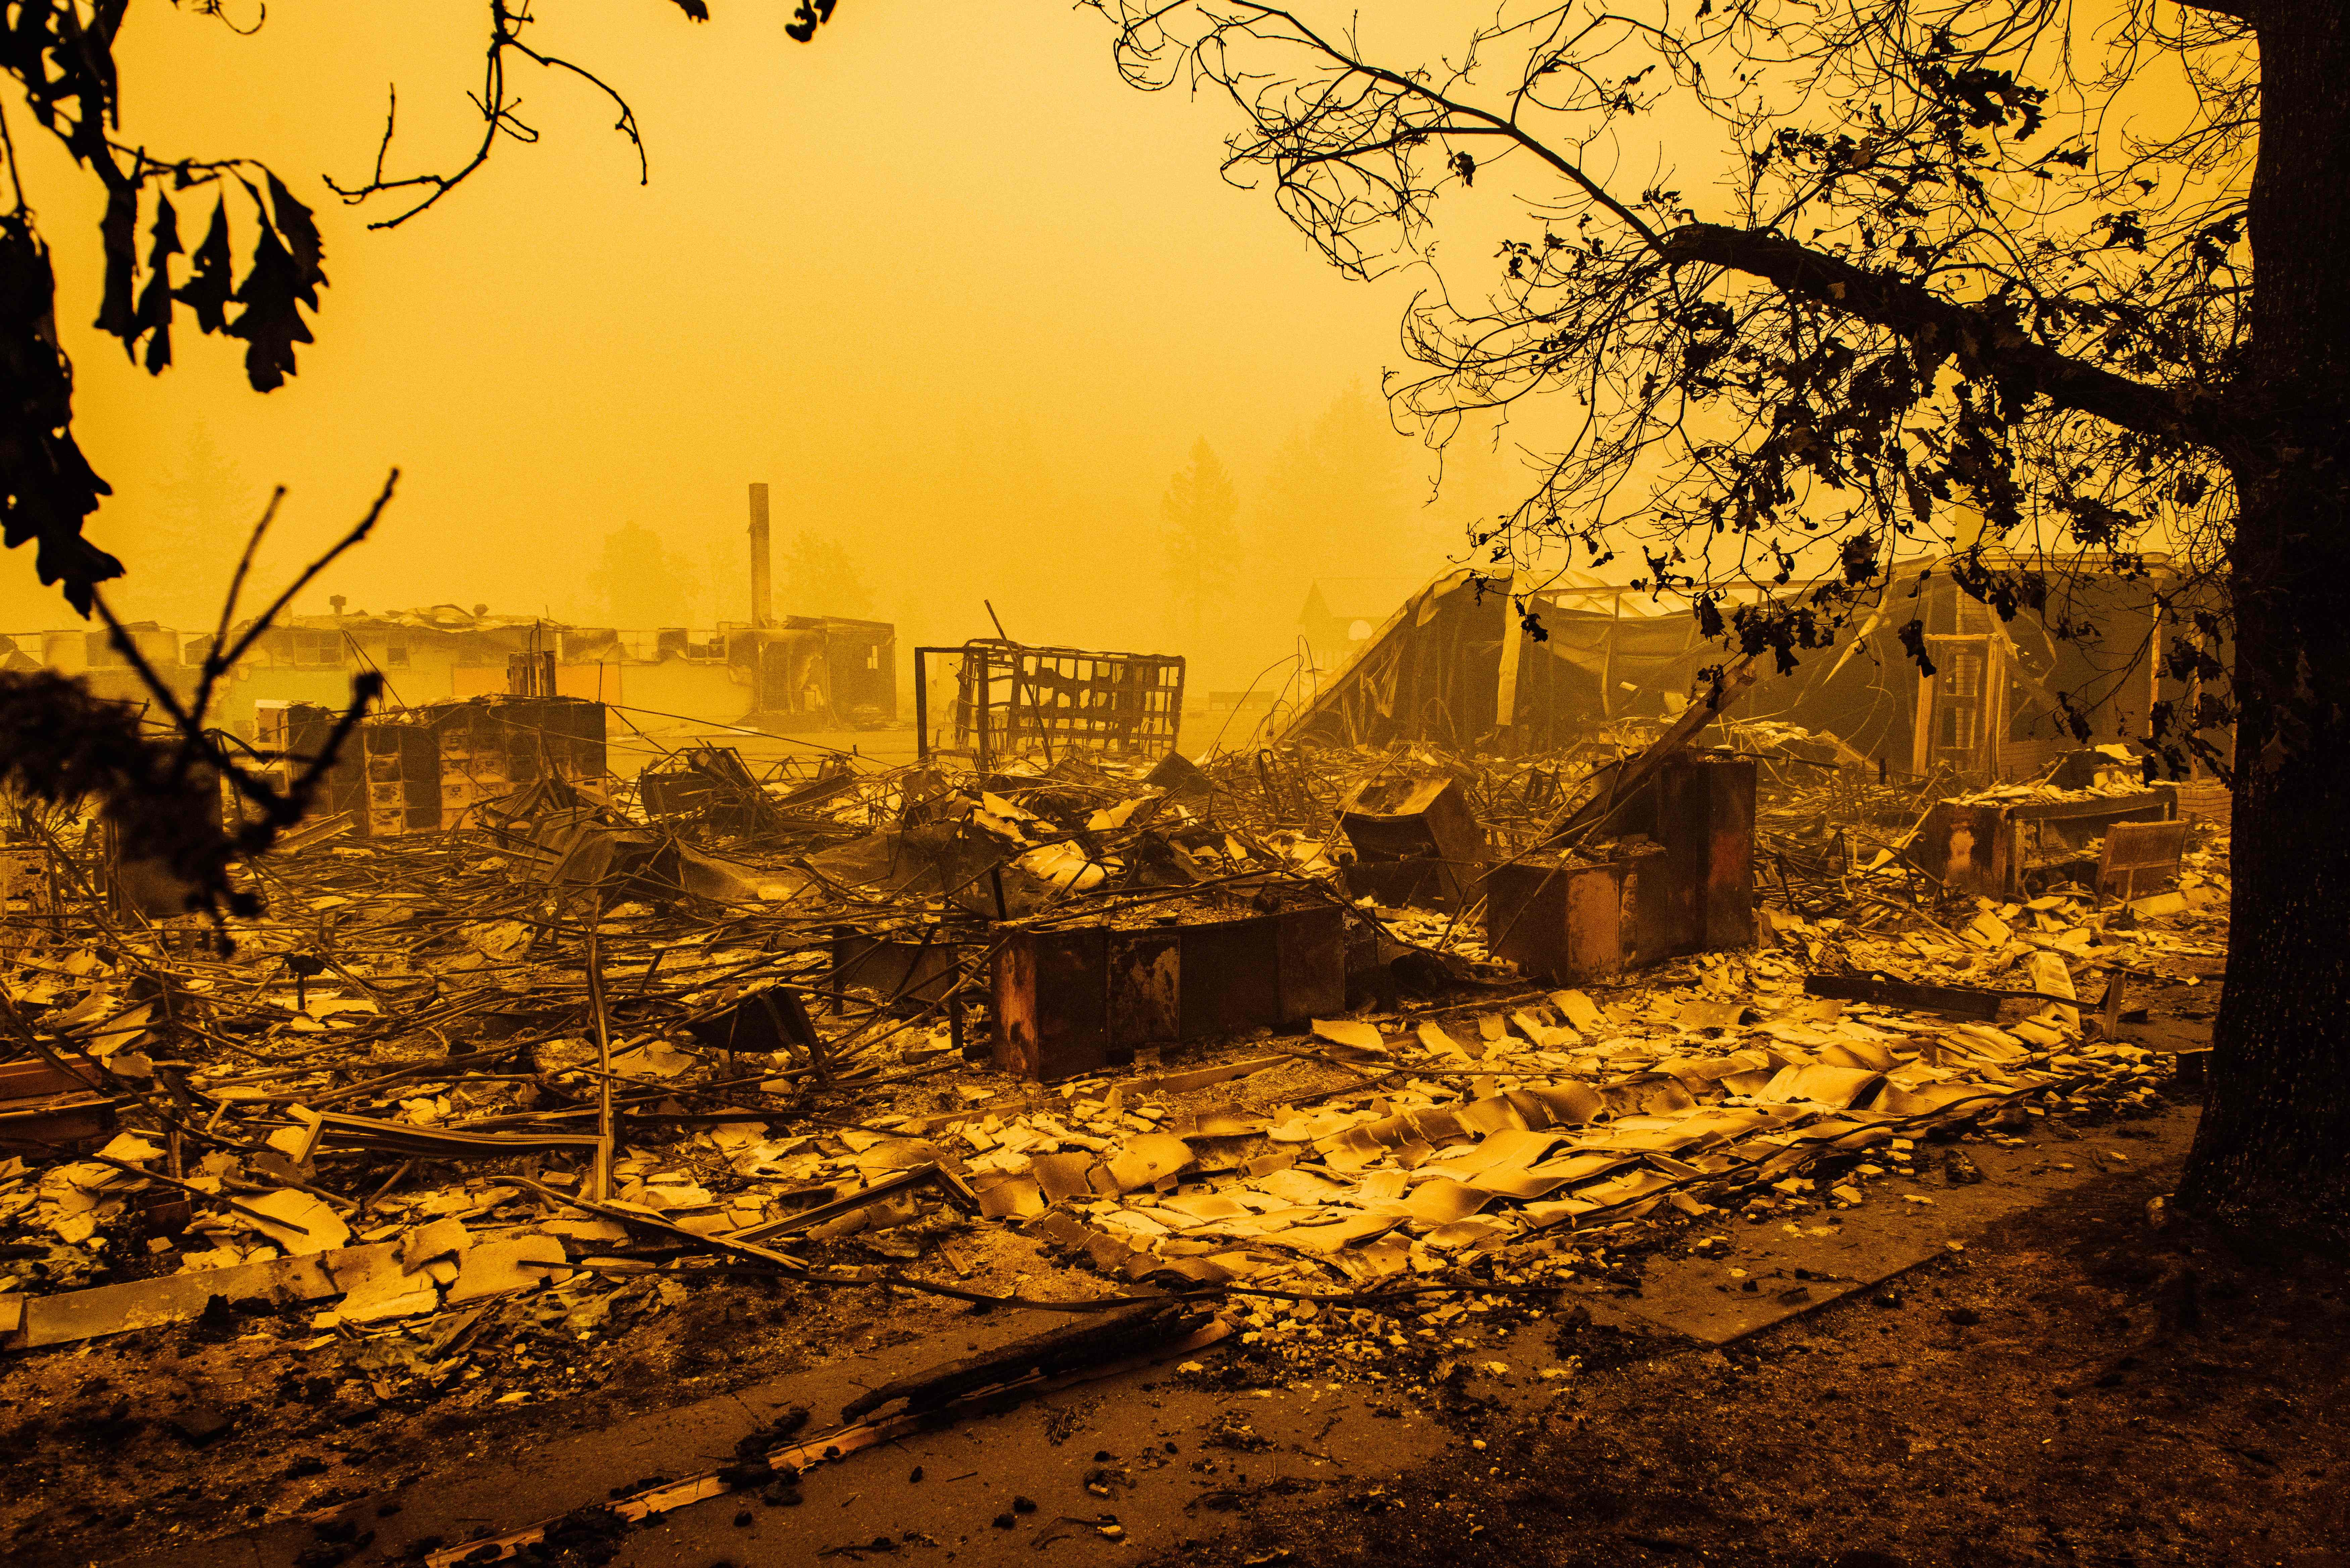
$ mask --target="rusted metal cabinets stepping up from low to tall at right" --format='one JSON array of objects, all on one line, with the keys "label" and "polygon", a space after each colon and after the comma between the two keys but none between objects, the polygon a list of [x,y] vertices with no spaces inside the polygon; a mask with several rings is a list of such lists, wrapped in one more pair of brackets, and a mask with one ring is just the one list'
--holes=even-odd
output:
[{"label": "rusted metal cabinets stepping up from low to tall at right", "polygon": [[1495,957],[1574,985],[1753,943],[1753,762],[1676,757],[1614,820],[1624,839],[1605,860],[1542,856],[1492,870]]}]

